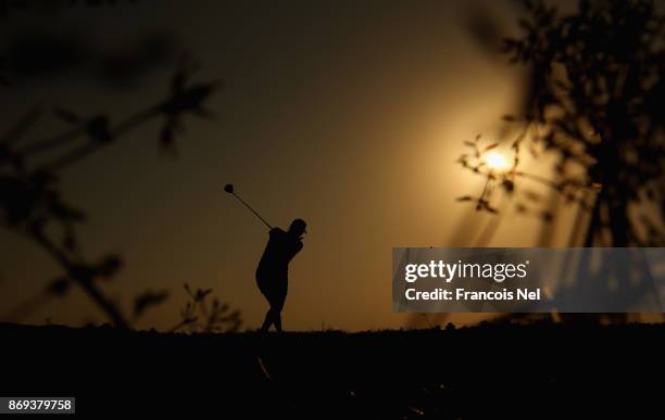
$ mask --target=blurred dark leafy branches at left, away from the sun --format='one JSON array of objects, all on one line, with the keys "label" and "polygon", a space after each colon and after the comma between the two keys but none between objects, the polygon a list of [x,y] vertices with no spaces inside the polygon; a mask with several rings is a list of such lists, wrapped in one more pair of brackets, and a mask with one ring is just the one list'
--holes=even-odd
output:
[{"label": "blurred dark leafy branches at left, away from the sun", "polygon": [[[128,317],[99,284],[117,273],[122,259],[109,254],[91,260],[85,255],[77,240],[76,227],[85,221],[86,214],[64,199],[59,173],[117,143],[123,136],[153,118],[164,120],[159,133],[160,149],[173,152],[174,131],[180,127],[183,118],[188,114],[209,115],[203,103],[216,88],[213,82],[189,84],[195,69],[191,61],[184,58],[165,99],[118,123],[112,122],[106,114],[79,116],[55,109],[53,115],[64,120],[67,128],[47,139],[24,141],[28,129],[43,114],[43,110],[35,109],[0,137],[0,224],[34,242],[63,270],[42,294],[21,305],[14,314],[29,311],[46,297],[63,296],[72,285],[78,285],[114,324],[129,327]],[[49,156],[46,162],[40,158],[42,155]],[[146,308],[163,302],[166,296],[165,292],[151,290],[139,294],[135,300],[134,316],[140,316]]]}]

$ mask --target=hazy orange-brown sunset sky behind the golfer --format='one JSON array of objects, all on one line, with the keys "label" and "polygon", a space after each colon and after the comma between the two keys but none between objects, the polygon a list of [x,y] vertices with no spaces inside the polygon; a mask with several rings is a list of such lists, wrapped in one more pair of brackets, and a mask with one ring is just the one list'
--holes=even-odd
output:
[{"label": "hazy orange-brown sunset sky behind the golfer", "polygon": [[[124,256],[106,290],[125,308],[146,288],[172,291],[141,328],[177,322],[185,281],[213,288],[255,328],[266,303],[253,272],[267,232],[221,191],[234,182],[272,224],[309,222],[290,270],[287,329],[401,327],[407,316],[391,313],[391,249],[469,244],[481,220],[454,201],[480,186],[454,161],[463,140],[498,132],[517,103],[519,72],[475,42],[466,23],[484,8],[505,27],[512,11],[482,1],[243,4],[146,1],[39,21],[47,33],[75,27],[100,44],[173,31],[201,61],[199,77],[225,84],[209,105],[216,120],[185,122],[178,160],[158,155],[160,126],[150,124],[66,173],[67,196],[90,216],[86,252]],[[16,18],[3,30],[30,25]],[[117,89],[84,77],[25,82],[0,98],[2,122],[34,103],[122,118],[159,99],[170,76],[162,68]],[[35,133],[52,127],[47,120]],[[497,244],[531,245],[538,229],[525,221]],[[30,243],[3,233],[0,249],[5,309],[59,275]],[[47,317],[103,320],[79,292],[25,321]]]}]

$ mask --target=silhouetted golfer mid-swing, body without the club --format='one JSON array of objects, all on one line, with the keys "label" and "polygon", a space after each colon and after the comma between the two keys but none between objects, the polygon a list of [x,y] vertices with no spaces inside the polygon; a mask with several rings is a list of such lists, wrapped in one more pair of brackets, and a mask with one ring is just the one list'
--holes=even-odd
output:
[{"label": "silhouetted golfer mid-swing, body without the club", "polygon": [[281,332],[281,309],[289,283],[289,263],[302,250],[302,236],[306,233],[306,226],[303,219],[296,219],[288,232],[279,228],[271,229],[271,238],[256,267],[256,284],[271,304],[261,327],[263,332],[272,324]]}]

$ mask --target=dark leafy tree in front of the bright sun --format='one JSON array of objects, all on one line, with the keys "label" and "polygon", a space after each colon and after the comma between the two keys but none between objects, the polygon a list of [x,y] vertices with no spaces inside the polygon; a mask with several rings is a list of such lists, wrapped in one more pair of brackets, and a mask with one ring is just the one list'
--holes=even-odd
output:
[{"label": "dark leafy tree in front of the bright sun", "polygon": [[[503,42],[511,62],[529,69],[523,109],[503,117],[517,132],[509,140],[513,162],[492,170],[485,157],[494,144],[466,142],[459,162],[486,184],[459,200],[498,213],[501,194],[549,220],[540,196],[522,188],[537,182],[590,212],[585,246],[662,246],[665,15],[654,0],[581,0],[568,14],[541,0],[519,3],[520,36]],[[556,156],[554,178],[523,170],[535,145]]]}]

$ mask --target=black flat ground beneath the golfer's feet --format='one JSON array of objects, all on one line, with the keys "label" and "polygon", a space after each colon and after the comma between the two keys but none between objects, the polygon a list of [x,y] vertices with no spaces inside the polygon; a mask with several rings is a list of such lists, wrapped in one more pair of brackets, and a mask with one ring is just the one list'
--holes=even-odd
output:
[{"label": "black flat ground beneath the golfer's feet", "polygon": [[663,418],[664,333],[488,324],[186,335],[0,323],[0,395],[75,396],[90,418]]}]

